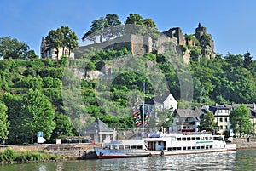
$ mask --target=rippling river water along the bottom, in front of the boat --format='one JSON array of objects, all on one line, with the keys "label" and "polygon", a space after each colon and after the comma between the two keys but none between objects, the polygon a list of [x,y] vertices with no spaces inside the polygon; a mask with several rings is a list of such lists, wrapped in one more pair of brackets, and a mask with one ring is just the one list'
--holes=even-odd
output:
[{"label": "rippling river water along the bottom, in front of the boat", "polygon": [[67,162],[0,165],[0,171],[113,171],[113,170],[256,170],[256,149],[189,154],[166,157],[139,157]]}]

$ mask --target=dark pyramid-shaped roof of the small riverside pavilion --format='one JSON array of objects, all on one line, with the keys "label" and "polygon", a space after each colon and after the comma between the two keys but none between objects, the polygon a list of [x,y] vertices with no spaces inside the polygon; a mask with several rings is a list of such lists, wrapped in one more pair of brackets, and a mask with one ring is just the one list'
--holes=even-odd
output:
[{"label": "dark pyramid-shaped roof of the small riverside pavilion", "polygon": [[96,119],[95,122],[90,123],[90,125],[82,130],[84,134],[94,134],[99,132],[113,132],[112,128],[109,128],[105,123],[100,119]]}]

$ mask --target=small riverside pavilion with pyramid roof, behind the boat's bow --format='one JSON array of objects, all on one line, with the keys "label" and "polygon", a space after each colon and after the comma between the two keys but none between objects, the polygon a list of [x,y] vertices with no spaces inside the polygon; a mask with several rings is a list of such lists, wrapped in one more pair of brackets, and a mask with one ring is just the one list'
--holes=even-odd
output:
[{"label": "small riverside pavilion with pyramid roof, behind the boat's bow", "polygon": [[84,136],[90,136],[96,143],[109,143],[114,139],[114,131],[97,118],[93,123],[81,131]]}]

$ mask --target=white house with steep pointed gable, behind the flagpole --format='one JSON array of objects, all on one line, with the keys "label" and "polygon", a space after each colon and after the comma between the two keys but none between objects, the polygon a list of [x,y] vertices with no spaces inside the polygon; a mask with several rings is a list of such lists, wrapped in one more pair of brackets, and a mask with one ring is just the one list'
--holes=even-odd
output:
[{"label": "white house with steep pointed gable, behind the flagpole", "polygon": [[158,110],[171,109],[171,111],[174,111],[177,109],[177,100],[175,100],[170,92],[166,92],[155,97],[154,104],[155,108],[157,108]]}]

